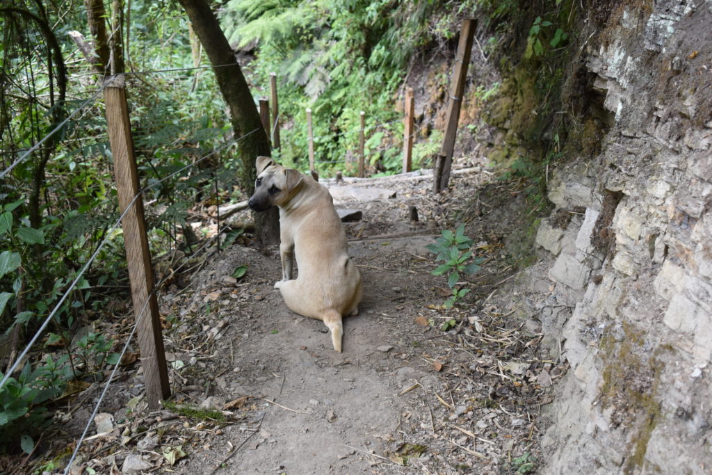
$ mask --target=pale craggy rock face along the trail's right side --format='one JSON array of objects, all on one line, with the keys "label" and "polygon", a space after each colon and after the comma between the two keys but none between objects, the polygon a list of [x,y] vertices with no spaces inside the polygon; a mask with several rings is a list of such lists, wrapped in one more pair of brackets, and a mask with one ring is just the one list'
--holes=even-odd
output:
[{"label": "pale craggy rock face along the trail's right side", "polygon": [[584,47],[601,152],[549,177],[527,271],[571,366],[542,473],[712,471],[712,1],[644,3]]}]

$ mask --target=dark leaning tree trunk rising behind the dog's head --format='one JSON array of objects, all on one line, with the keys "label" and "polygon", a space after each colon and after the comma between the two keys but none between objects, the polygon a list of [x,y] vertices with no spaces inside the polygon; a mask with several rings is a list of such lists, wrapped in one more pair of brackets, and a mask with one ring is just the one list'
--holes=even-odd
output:
[{"label": "dark leaning tree trunk rising behind the dog's head", "polygon": [[[271,155],[267,132],[262,127],[255,101],[235,54],[207,1],[179,0],[179,2],[213,65],[220,91],[230,109],[235,136],[245,136],[239,141],[237,150],[242,162],[241,189],[249,196],[254,192],[255,159],[260,155],[266,157]],[[279,241],[279,212],[276,207],[255,214],[254,220],[259,244],[274,244]]]}]

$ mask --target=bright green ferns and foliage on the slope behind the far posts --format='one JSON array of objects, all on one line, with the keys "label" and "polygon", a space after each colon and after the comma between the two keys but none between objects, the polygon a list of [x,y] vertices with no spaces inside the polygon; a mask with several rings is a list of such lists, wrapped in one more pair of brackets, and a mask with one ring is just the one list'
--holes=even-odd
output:
[{"label": "bright green ferns and foliage on the slope behind the far posts", "polygon": [[436,1],[229,1],[221,22],[231,44],[258,48],[253,83],[266,85],[278,71],[280,120],[290,123],[281,135],[283,162],[307,167],[304,110],[311,108],[315,157],[325,162],[318,171],[344,170],[364,110],[367,161],[378,172],[397,171],[402,123],[394,95],[416,49],[431,41],[439,9]]}]

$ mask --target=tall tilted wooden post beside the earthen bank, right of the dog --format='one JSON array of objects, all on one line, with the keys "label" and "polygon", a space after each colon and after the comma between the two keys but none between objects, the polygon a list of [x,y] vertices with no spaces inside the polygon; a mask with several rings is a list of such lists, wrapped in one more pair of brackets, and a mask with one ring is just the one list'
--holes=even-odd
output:
[{"label": "tall tilted wooden post beside the earthen bank, right of the dog", "polygon": [[462,21],[460,42],[457,46],[455,68],[450,86],[450,102],[447,108],[445,137],[440,153],[436,157],[433,173],[433,191],[436,193],[446,189],[450,179],[452,154],[455,150],[455,137],[457,135],[457,122],[460,118],[462,97],[465,93],[465,78],[467,76],[467,67],[470,64],[470,53],[472,51],[472,38],[475,34],[475,26],[476,21],[473,19]]}]

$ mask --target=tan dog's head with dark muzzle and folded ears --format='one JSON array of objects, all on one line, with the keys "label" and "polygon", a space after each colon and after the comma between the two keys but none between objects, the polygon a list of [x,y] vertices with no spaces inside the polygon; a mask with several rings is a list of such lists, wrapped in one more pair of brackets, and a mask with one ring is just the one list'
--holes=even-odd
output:
[{"label": "tan dog's head with dark muzzle and folded ears", "polygon": [[288,203],[304,178],[297,170],[278,165],[270,157],[257,157],[255,167],[255,192],[247,204],[258,212]]}]

